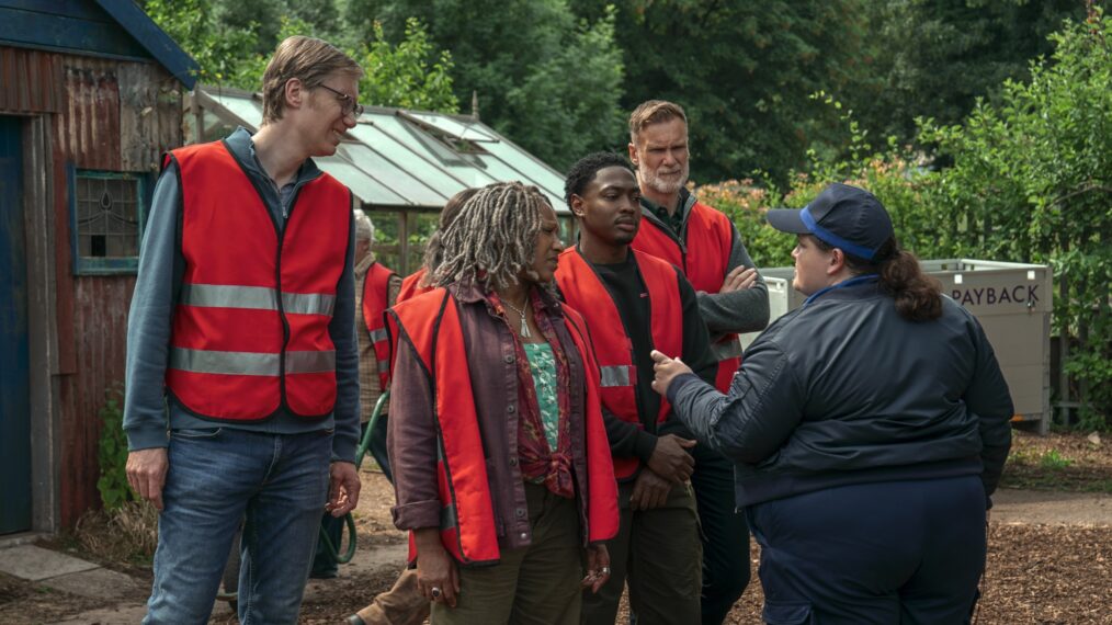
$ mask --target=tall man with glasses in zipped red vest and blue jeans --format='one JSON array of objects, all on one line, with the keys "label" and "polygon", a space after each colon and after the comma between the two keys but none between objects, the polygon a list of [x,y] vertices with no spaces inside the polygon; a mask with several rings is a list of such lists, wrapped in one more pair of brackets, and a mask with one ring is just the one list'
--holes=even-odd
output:
[{"label": "tall man with glasses in zipped red vest and blue jeans", "polygon": [[336,151],[363,70],[291,37],[262,127],[168,155],[128,323],[128,479],[159,510],[143,623],[206,623],[244,522],[239,618],[296,623],[321,509],[355,507],[351,192]]}]

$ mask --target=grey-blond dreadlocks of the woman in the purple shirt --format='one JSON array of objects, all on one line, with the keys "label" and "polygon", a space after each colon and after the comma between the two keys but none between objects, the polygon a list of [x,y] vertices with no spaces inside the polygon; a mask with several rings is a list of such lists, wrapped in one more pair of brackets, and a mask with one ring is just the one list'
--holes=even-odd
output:
[{"label": "grey-blond dreadlocks of the woman in the purple shirt", "polygon": [[430,284],[478,284],[494,290],[516,285],[522,268],[533,261],[544,208],[552,205],[536,187],[520,182],[483,187],[438,232],[441,257],[429,268]]}]

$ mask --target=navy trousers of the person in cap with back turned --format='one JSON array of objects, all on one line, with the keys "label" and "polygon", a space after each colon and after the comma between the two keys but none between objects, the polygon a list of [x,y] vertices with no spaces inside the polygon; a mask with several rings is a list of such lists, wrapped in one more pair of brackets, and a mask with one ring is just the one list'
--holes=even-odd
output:
[{"label": "navy trousers of the person in cap with back turned", "polygon": [[748,508],[774,625],[960,625],[985,562],[977,476],[828,488]]}]

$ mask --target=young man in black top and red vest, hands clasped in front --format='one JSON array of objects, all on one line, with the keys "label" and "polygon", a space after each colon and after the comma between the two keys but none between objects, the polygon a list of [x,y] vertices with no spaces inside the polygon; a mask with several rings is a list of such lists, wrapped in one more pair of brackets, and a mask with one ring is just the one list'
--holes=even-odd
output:
[{"label": "young man in black top and red vest, hands clasped in front", "polygon": [[579,242],[560,255],[556,281],[587,320],[622,515],[609,543],[613,579],[597,595],[584,595],[584,623],[614,623],[623,582],[644,622],[697,623],[702,547],[687,482],[694,442],[653,391],[649,354],[672,349],[707,381],[717,361],[687,280],[629,247],[642,221],[641,191],[625,160],[605,152],[582,159],[568,172],[565,195],[579,220]]}]

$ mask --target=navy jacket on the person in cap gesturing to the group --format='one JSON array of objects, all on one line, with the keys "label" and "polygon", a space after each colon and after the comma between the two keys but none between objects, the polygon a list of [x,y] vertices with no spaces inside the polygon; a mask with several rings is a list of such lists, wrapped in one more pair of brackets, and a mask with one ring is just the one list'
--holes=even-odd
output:
[{"label": "navy jacket on the person in cap gesturing to the group", "polygon": [[943,296],[939,319],[909,321],[875,277],[777,319],[728,395],[694,375],[667,394],[701,444],[734,460],[738,506],[961,475],[980,475],[987,500],[1011,446],[1011,396],[977,320]]}]

